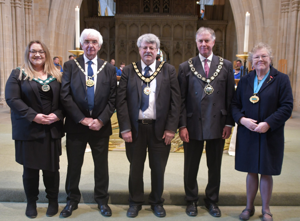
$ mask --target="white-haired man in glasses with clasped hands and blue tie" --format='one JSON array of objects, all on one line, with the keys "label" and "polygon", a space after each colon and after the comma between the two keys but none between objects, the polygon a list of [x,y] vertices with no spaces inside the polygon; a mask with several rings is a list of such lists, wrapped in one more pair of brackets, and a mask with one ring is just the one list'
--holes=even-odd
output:
[{"label": "white-haired man in glasses with clasped hands and blue tie", "polygon": [[101,34],[85,29],[80,36],[83,57],[64,63],[61,103],[65,120],[68,170],[66,179],[67,205],[61,216],[68,217],[78,208],[78,188],[87,143],[95,166],[95,201],[104,216],[111,216],[107,205],[108,144],[112,134],[110,118],[115,111],[117,89],[116,69],[97,57],[102,45]]}]

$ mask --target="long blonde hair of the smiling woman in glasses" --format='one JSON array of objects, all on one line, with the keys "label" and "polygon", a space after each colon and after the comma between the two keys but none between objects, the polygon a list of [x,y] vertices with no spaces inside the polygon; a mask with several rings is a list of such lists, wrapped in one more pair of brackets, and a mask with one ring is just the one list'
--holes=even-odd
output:
[{"label": "long blonde hair of the smiling woman in glasses", "polygon": [[24,68],[25,73],[26,73],[26,77],[25,79],[29,79],[30,81],[36,77],[39,76],[39,73],[33,69],[32,64],[29,60],[29,53],[30,53],[30,47],[32,46],[32,44],[37,43],[40,44],[43,48],[43,50],[45,51],[45,56],[46,56],[46,61],[43,64],[44,66],[44,73],[47,73],[53,77],[55,77],[57,79],[58,82],[61,83],[61,72],[55,67],[55,65],[53,64],[53,61],[50,57],[50,53],[49,50],[47,48],[47,46],[41,42],[40,40],[32,40],[25,49],[25,63],[21,66],[20,68],[20,74],[19,74],[19,79],[22,80],[22,69]]}]

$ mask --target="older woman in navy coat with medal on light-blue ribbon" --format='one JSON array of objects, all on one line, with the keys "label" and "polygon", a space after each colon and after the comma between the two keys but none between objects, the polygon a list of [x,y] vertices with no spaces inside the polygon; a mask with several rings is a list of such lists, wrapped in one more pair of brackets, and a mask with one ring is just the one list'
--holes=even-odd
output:
[{"label": "older woman in navy coat with medal on light-blue ribbon", "polygon": [[[241,77],[231,103],[238,124],[235,169],[247,172],[247,206],[240,214],[248,220],[254,214],[254,199],[260,190],[263,221],[271,221],[269,208],[273,178],[280,175],[284,124],[292,114],[293,96],[289,77],[270,66],[271,47],[256,44],[248,60],[255,70]],[[260,184],[259,177],[260,174]]]}]

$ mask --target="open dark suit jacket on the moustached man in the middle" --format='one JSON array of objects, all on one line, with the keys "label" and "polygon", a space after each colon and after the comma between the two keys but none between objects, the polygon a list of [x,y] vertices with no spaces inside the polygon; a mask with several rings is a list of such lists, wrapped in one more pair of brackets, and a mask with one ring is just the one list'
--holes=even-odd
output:
[{"label": "open dark suit jacket on the moustached man in the middle", "polygon": [[[136,62],[142,73],[141,61]],[[155,68],[161,64],[156,61]],[[133,65],[122,70],[116,98],[117,117],[121,131],[131,129],[133,140],[138,136],[138,118],[142,96],[142,80],[135,72]],[[164,130],[177,131],[180,111],[180,91],[175,67],[165,63],[156,76],[156,122],[155,136],[162,140]]]}]

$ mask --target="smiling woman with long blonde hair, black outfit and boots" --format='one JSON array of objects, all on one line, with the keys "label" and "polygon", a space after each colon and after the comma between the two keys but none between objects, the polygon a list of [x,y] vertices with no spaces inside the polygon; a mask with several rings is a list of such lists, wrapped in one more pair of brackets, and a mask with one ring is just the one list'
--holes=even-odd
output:
[{"label": "smiling woman with long blonde hair, black outfit and boots", "polygon": [[26,47],[25,63],[12,70],[5,86],[16,162],[23,165],[29,218],[38,215],[40,169],[49,200],[46,215],[54,216],[58,212],[59,156],[64,136],[60,83],[61,73],[55,68],[48,48],[41,41],[33,40]]}]

